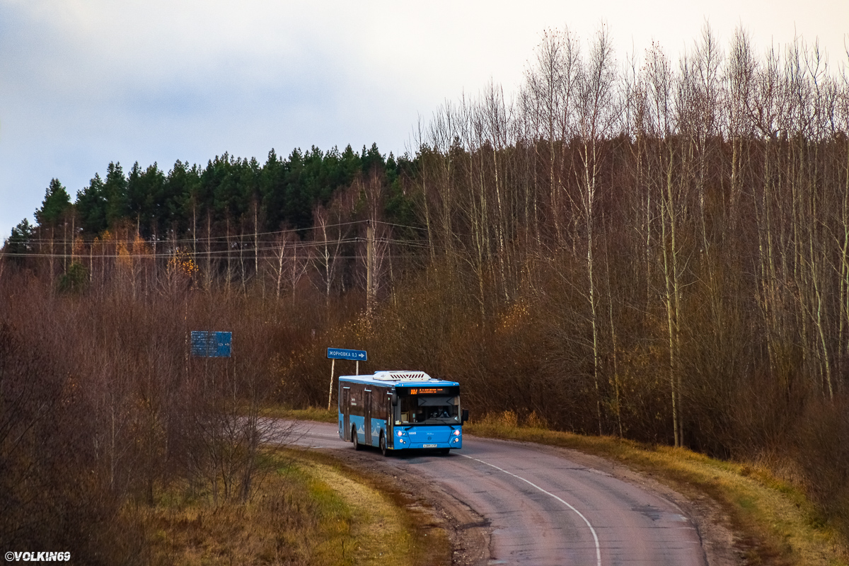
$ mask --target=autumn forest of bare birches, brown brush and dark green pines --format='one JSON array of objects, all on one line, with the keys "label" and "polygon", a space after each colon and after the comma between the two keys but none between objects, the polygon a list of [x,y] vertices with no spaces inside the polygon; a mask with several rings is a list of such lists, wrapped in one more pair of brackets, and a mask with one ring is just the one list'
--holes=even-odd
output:
[{"label": "autumn forest of bare birches, brown brush and dark green pines", "polygon": [[[112,163],[74,202],[53,179],[0,258],[0,540],[111,563],[128,501],[250,496],[259,433],[234,416],[326,406],[329,346],[457,380],[473,419],[766,464],[849,533],[831,60],[709,27],[621,60],[604,28],[549,30],[517,92],[446,102],[414,154]],[[199,329],[233,358],[191,359]]]}]

